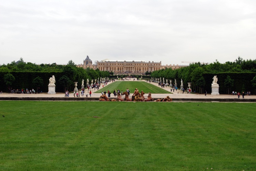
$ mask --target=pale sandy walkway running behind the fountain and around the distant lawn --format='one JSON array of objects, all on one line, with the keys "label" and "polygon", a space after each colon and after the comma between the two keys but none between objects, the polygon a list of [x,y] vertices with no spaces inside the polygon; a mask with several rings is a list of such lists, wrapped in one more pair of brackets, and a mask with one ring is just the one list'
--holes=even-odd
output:
[{"label": "pale sandy walkway running behind the fountain and around the distant lawn", "polygon": [[[133,79],[131,79],[130,81],[133,81]],[[137,81],[137,80],[136,80]],[[144,80],[142,80],[144,81]],[[109,84],[111,84],[111,82],[109,82],[107,84],[107,86],[104,86],[104,90],[105,87],[107,88]],[[148,82],[149,83],[149,82]],[[160,87],[161,86],[158,86],[158,83],[154,83],[154,82],[151,82],[151,84],[157,86],[157,87]],[[101,84],[101,87],[99,88],[99,90],[102,89],[102,84]],[[167,87],[167,88],[162,88],[162,89],[165,89],[167,91],[170,92],[170,87]],[[94,97],[94,98],[99,98],[101,96],[101,93],[94,93],[96,92],[97,90],[92,90],[92,94],[91,94],[91,97]],[[140,91],[140,90],[139,90]],[[179,93],[178,93],[179,92]],[[190,94],[182,94],[180,93],[180,91],[174,91],[172,92],[173,94],[168,93],[168,94],[152,94],[152,98],[154,99],[157,99],[157,98],[164,98],[166,96],[169,96],[170,98],[173,98],[173,99],[182,99],[182,98],[198,98],[198,99],[209,99],[209,98],[212,98],[212,99],[231,99],[231,98],[238,98],[237,95],[227,95],[227,94],[221,94],[221,95],[211,95],[211,94],[207,94],[206,96],[204,94],[197,94],[197,93],[190,93]],[[88,91],[85,91],[85,94],[84,94],[84,97],[86,97],[86,94],[88,95],[88,97],[90,97]],[[133,94],[133,92],[131,91],[131,94]],[[73,96],[73,93],[70,93],[69,95],[70,97],[74,97]],[[146,97],[147,94],[144,95],[144,97]],[[1,93],[0,94],[0,97],[65,97],[65,94],[64,93],[56,93],[56,94],[47,94],[47,93],[39,93],[39,94],[10,94],[10,93]],[[111,97],[114,97],[113,96],[113,93],[111,94]],[[78,98],[83,98],[81,97],[78,97]],[[240,98],[242,98],[242,95],[240,96]],[[245,99],[256,99],[256,96],[255,95],[251,95],[251,96],[244,96]]]}]

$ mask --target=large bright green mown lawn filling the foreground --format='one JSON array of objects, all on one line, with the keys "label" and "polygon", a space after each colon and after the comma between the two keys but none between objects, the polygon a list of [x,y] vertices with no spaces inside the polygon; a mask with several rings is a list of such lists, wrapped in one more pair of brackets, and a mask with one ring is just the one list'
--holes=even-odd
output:
[{"label": "large bright green mown lawn filling the foreground", "polygon": [[256,170],[255,103],[0,104],[0,170]]}]

